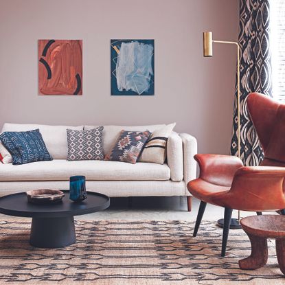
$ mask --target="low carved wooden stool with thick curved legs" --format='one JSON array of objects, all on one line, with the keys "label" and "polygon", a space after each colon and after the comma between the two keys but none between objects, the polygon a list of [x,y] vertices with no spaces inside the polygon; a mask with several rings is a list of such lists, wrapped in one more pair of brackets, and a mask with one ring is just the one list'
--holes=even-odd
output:
[{"label": "low carved wooden stool with thick curved legs", "polygon": [[240,260],[240,269],[259,269],[268,259],[267,238],[275,238],[280,270],[285,274],[285,216],[249,216],[240,220],[251,241],[251,255]]}]

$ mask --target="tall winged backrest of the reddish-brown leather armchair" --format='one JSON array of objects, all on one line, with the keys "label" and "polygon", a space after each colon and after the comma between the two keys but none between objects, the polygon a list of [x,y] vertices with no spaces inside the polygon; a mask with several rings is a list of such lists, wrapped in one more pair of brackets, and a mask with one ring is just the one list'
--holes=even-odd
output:
[{"label": "tall winged backrest of the reddish-brown leather armchair", "polygon": [[264,151],[260,165],[285,167],[285,104],[260,93],[251,93],[247,109]]}]

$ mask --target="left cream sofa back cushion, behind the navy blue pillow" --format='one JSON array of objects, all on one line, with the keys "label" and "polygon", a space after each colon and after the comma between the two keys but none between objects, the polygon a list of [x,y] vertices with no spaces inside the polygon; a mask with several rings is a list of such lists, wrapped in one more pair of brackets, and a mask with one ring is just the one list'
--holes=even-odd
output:
[{"label": "left cream sofa back cushion, behind the navy blue pillow", "polygon": [[49,154],[54,159],[67,159],[67,128],[83,130],[83,126],[48,126],[35,124],[4,124],[3,132],[23,132],[38,128]]}]

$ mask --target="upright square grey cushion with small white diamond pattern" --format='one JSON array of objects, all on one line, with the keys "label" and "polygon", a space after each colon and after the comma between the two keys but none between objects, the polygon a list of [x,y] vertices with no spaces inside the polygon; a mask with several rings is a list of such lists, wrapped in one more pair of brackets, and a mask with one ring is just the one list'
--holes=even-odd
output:
[{"label": "upright square grey cushion with small white diamond pattern", "polygon": [[103,160],[103,126],[93,130],[67,129],[67,160]]}]

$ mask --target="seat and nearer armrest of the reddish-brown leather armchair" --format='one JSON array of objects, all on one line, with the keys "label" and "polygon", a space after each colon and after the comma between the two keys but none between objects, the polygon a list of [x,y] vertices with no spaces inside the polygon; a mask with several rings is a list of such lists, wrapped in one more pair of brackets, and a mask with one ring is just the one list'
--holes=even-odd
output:
[{"label": "seat and nearer armrest of the reddish-brown leather armchair", "polygon": [[238,168],[231,186],[218,185],[198,178],[187,184],[196,198],[230,209],[266,212],[284,209],[285,169],[272,166]]}]

